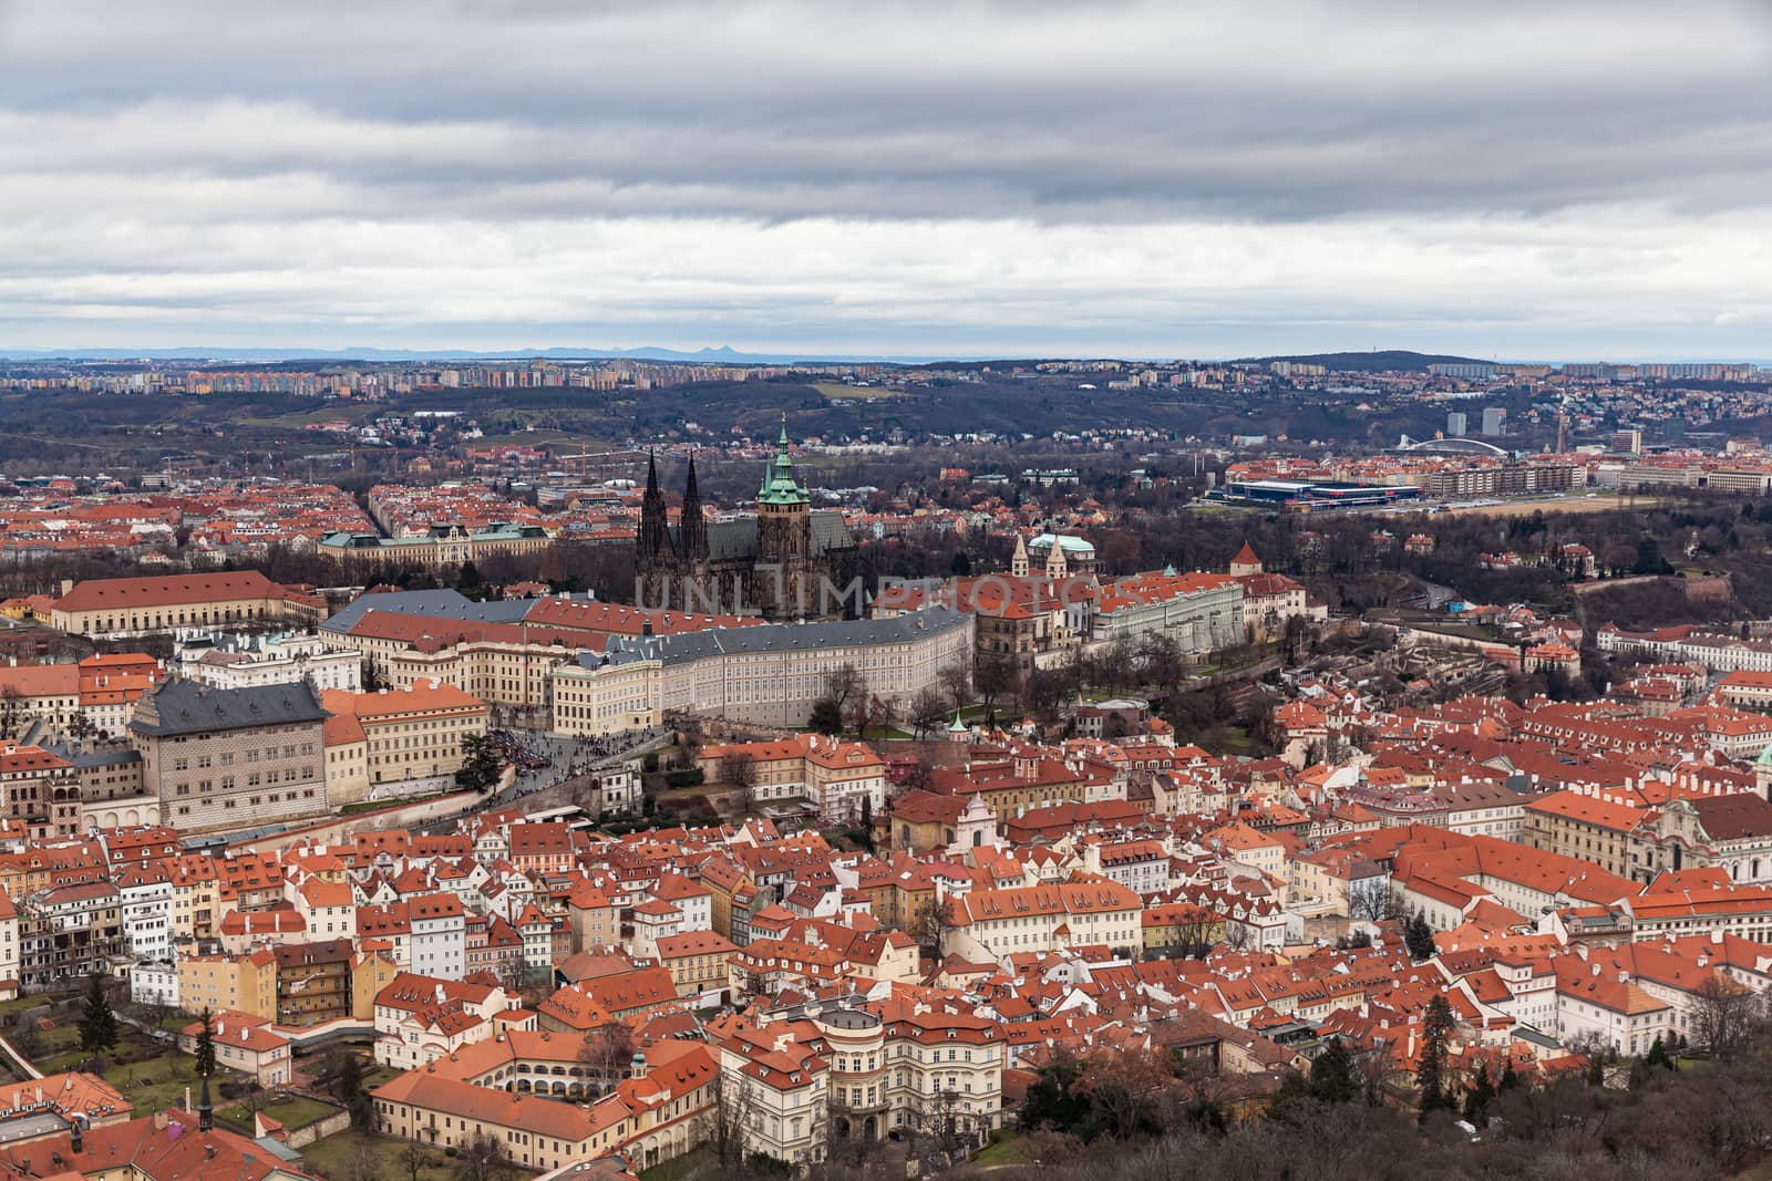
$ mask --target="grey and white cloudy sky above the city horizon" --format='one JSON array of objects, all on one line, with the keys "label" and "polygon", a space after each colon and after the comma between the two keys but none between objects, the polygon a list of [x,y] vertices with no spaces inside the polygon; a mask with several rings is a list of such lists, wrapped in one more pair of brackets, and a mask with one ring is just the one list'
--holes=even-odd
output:
[{"label": "grey and white cloudy sky above the city horizon", "polygon": [[0,0],[0,349],[1772,358],[1772,5],[1210,7]]}]

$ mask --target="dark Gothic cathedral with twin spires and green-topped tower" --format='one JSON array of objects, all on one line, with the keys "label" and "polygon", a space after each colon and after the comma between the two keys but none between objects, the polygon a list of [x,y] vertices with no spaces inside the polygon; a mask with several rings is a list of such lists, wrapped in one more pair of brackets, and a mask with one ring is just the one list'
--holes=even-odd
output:
[{"label": "dark Gothic cathedral with twin spires and green-topped tower", "polygon": [[640,606],[689,613],[762,614],[766,620],[854,618],[861,611],[856,542],[842,513],[813,512],[794,473],[787,423],[757,489],[757,513],[707,521],[695,482],[695,457],[672,529],[657,460],[647,462],[647,492],[634,533]]}]

